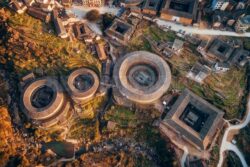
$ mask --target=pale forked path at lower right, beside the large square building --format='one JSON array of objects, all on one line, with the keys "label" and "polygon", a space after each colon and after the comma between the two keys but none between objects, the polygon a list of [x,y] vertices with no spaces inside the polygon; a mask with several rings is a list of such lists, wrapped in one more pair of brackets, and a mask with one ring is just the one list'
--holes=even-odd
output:
[{"label": "pale forked path at lower right, beside the large square building", "polygon": [[228,137],[228,134],[230,133],[231,130],[240,130],[240,129],[246,127],[250,123],[250,94],[248,95],[246,114],[247,115],[245,117],[245,120],[241,124],[229,125],[229,127],[226,129],[224,136],[223,136],[223,139],[222,139],[221,147],[220,147],[220,159],[219,159],[219,163],[218,163],[217,167],[222,167],[225,151],[233,151],[240,158],[243,167],[248,167],[242,152],[238,149],[238,147],[236,145],[228,142],[227,137]]}]

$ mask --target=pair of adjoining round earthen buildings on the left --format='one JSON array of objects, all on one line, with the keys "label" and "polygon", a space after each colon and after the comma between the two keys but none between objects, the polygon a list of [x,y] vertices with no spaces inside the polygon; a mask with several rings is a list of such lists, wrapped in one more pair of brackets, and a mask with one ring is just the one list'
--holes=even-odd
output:
[{"label": "pair of adjoining round earthen buildings on the left", "polygon": [[99,77],[87,68],[77,69],[61,79],[36,78],[31,73],[20,83],[24,114],[35,126],[45,129],[67,125],[74,116],[72,104],[87,103],[99,92]]}]

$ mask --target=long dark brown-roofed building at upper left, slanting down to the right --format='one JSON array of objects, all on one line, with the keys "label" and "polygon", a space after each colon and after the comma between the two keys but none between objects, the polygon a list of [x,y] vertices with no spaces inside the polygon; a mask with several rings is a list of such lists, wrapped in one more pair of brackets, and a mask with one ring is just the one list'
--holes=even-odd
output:
[{"label": "long dark brown-roofed building at upper left, slanting down to the right", "polygon": [[27,13],[34,18],[44,21],[45,23],[50,22],[50,13],[46,13],[39,8],[29,7]]}]

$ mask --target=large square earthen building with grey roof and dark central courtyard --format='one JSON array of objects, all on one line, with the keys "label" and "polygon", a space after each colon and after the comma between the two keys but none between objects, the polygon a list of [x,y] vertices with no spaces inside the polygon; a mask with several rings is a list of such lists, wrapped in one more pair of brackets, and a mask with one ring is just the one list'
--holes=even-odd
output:
[{"label": "large square earthen building with grey roof and dark central courtyard", "polygon": [[187,147],[207,150],[223,127],[223,115],[224,112],[185,89],[170,107],[159,128],[177,145],[183,140],[183,143],[187,142]]}]

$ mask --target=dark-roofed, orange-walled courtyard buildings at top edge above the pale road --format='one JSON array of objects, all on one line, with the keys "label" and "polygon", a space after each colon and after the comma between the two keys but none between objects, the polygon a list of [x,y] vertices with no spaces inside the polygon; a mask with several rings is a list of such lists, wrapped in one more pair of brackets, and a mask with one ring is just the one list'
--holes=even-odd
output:
[{"label": "dark-roofed, orange-walled courtyard buildings at top edge above the pale road", "polygon": [[191,25],[197,22],[198,0],[125,0],[122,5],[131,12],[145,16],[159,16],[163,20]]}]

